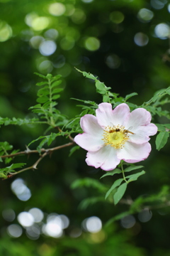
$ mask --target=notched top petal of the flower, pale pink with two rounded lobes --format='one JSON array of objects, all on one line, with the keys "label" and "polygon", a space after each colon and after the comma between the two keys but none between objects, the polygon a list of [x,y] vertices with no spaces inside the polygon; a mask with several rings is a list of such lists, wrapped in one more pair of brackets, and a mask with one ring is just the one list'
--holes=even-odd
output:
[{"label": "notched top petal of the flower, pale pink with two rounded lobes", "polygon": [[101,103],[96,110],[98,124],[103,128],[111,125],[123,125],[125,118],[127,118],[129,114],[130,108],[125,103],[118,105],[114,110],[112,110],[110,103]]}]

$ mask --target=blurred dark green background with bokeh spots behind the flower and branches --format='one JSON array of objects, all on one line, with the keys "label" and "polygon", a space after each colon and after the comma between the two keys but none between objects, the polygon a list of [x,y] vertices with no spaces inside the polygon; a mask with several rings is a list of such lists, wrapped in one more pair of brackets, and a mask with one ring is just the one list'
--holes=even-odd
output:
[{"label": "blurred dark green background with bokeh spots behind the flower and branches", "polygon": [[[35,72],[62,75],[58,108],[68,118],[81,110],[71,97],[100,103],[94,83],[75,67],[97,75],[123,97],[137,92],[132,102],[141,105],[169,86],[169,36],[168,0],[0,0],[0,116],[34,117],[28,107],[35,105],[35,83],[40,82]],[[2,126],[0,139],[25,150],[46,128]],[[57,139],[52,146],[67,142]],[[142,163],[147,174],[130,184],[125,198],[169,186],[169,144],[159,153],[153,138],[151,144],[152,154]],[[128,206],[101,201],[80,207],[98,191],[72,190],[72,182],[103,175],[86,166],[85,156],[83,149],[70,157],[69,148],[61,149],[43,159],[38,170],[0,181],[1,255],[170,255],[169,207],[143,209],[108,227],[105,223]],[[30,166],[37,159],[20,156],[17,161]],[[111,186],[113,178],[102,182]]]}]

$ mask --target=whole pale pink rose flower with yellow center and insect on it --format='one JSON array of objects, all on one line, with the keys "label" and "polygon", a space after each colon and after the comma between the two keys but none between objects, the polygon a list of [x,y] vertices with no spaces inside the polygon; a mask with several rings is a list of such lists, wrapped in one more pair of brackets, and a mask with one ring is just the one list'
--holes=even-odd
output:
[{"label": "whole pale pink rose flower with yellow center and insect on it", "polygon": [[96,117],[92,114],[81,117],[84,133],[78,134],[74,141],[88,151],[86,164],[111,171],[122,159],[127,163],[147,159],[151,151],[149,136],[157,133],[151,118],[144,108],[130,112],[123,103],[112,110],[110,103],[101,103]]}]

